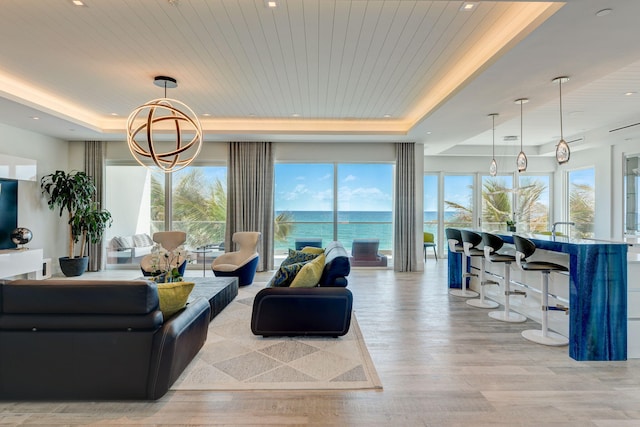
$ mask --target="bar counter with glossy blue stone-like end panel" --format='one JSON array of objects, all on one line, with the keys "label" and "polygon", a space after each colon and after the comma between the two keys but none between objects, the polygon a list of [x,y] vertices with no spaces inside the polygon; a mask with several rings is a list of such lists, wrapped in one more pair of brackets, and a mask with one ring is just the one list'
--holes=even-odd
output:
[{"label": "bar counter with glossy blue stone-like end panel", "polygon": [[[569,356],[575,360],[627,359],[627,244],[529,233],[513,234],[537,248],[569,256]],[[461,255],[449,252],[449,287],[459,288]]]}]

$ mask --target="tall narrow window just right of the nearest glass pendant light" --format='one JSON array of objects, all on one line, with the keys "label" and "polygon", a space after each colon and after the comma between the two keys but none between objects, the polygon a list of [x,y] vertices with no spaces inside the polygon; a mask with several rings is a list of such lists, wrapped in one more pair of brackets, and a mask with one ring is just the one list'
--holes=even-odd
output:
[{"label": "tall narrow window just right of the nearest glass pendant light", "polygon": [[569,221],[575,223],[571,235],[575,237],[594,236],[595,218],[595,169],[586,168],[567,173],[569,194]]}]

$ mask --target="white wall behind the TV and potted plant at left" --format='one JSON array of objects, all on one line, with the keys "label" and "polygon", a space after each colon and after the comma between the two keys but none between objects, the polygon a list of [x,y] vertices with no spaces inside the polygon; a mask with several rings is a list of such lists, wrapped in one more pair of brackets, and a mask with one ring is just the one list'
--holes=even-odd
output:
[{"label": "white wall behind the TV and potted plant at left", "polygon": [[60,256],[67,254],[67,218],[50,211],[40,191],[40,178],[56,170],[68,170],[66,141],[0,124],[0,152],[37,161],[37,181],[18,183],[18,226],[33,232],[29,247],[42,248],[52,258],[54,271]]}]

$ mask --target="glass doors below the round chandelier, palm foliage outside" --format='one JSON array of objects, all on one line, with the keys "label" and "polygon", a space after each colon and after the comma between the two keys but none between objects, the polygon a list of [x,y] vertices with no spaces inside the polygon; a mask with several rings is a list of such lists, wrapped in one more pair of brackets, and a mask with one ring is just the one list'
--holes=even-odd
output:
[{"label": "glass doors below the round chandelier, palm foliage outside", "polygon": [[[164,230],[185,231],[188,249],[221,243],[226,226],[226,170],[224,166],[189,166],[163,174],[138,165],[107,165],[106,207],[113,215],[107,245],[113,237],[152,236]],[[108,249],[107,263],[139,262],[138,256],[127,257],[133,251],[120,252]]]}]

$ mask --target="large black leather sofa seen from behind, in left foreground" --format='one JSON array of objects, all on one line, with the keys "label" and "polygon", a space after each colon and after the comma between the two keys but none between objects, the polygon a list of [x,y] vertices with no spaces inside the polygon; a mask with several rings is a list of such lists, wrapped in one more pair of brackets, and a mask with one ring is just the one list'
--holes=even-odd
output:
[{"label": "large black leather sofa seen from behind, in left foreground", "polygon": [[0,399],[158,399],[207,338],[209,302],[163,319],[153,282],[0,285]]}]

